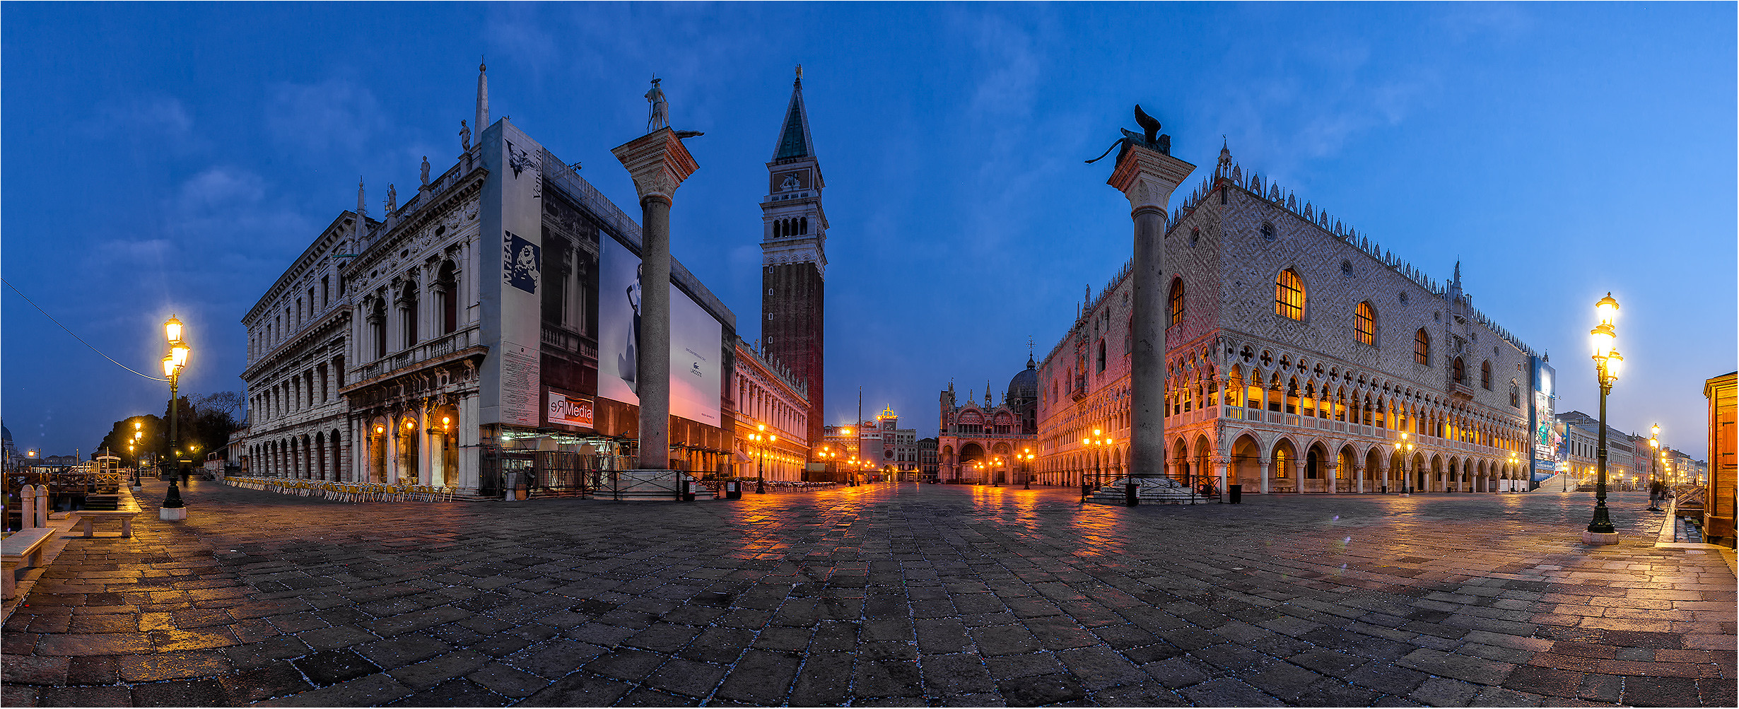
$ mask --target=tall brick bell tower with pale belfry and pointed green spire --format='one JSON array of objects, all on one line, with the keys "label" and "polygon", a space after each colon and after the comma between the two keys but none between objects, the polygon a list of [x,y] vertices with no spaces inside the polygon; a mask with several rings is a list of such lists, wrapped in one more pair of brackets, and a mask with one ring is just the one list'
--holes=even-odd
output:
[{"label": "tall brick bell tower with pale belfry and pointed green spire", "polygon": [[798,66],[762,200],[762,353],[809,388],[810,447],[821,443],[826,422],[821,389],[828,215],[821,210],[823,188],[803,109],[803,68]]}]

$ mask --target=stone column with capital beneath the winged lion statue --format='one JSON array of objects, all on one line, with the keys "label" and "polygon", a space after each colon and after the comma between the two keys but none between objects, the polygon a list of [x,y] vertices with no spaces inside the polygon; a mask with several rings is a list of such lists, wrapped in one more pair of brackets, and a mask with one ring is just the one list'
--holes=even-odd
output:
[{"label": "stone column with capital beneath the winged lion statue", "polygon": [[1165,473],[1165,203],[1195,165],[1169,155],[1170,137],[1151,146],[1125,139],[1106,184],[1129,198],[1136,222],[1134,353],[1130,354],[1130,474]]}]

